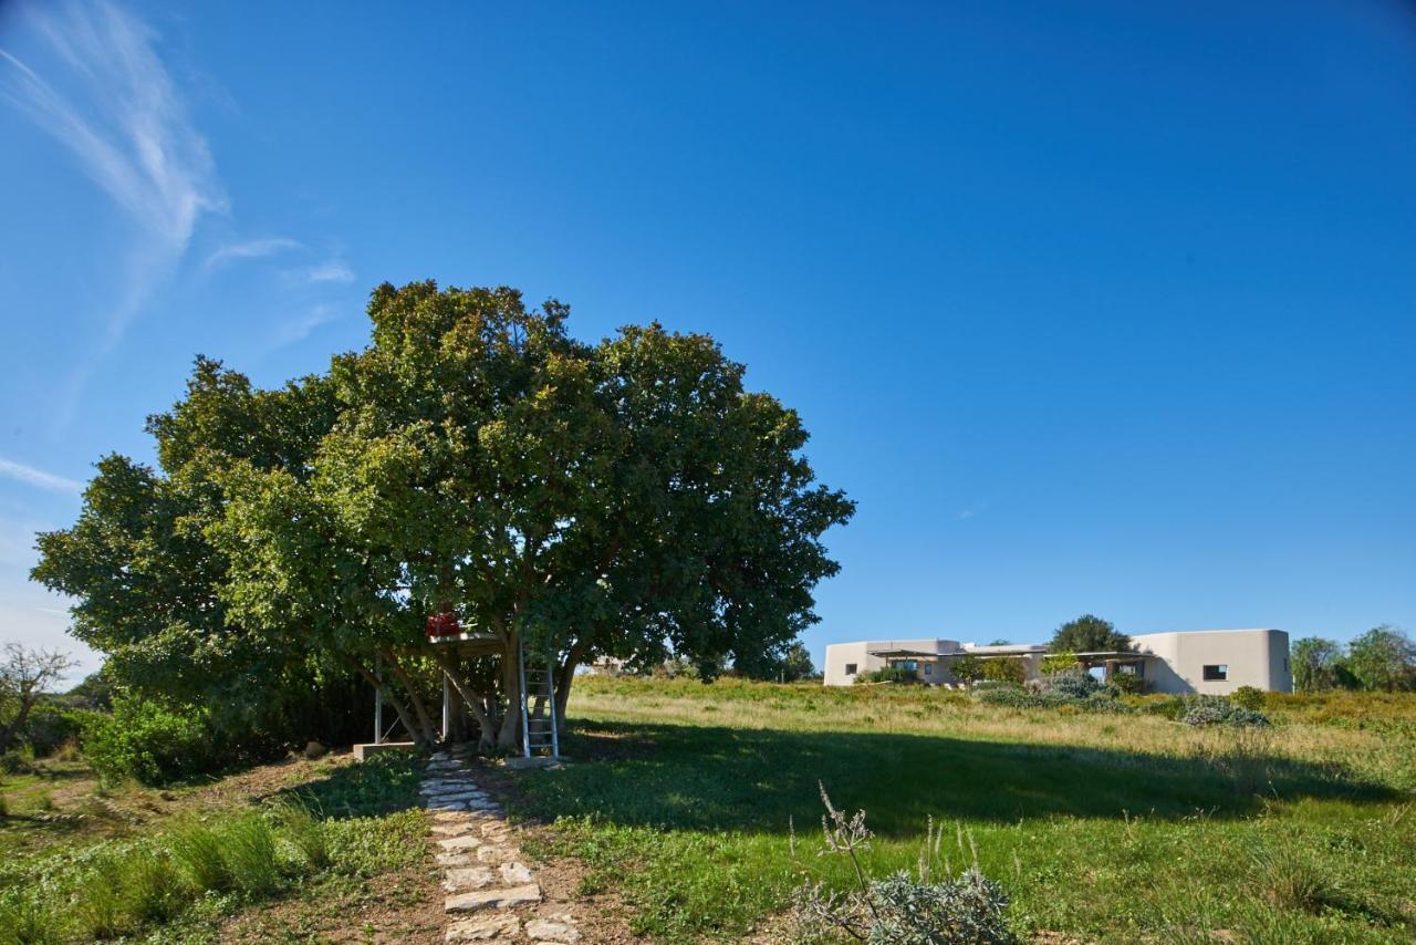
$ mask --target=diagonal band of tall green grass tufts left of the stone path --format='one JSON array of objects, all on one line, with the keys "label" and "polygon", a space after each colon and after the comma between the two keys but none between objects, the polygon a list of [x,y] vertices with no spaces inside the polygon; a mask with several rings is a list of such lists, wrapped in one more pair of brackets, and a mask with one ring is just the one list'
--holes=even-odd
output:
[{"label": "diagonal band of tall green grass tufts left of the stone path", "polygon": [[[283,894],[300,877],[374,877],[428,854],[419,765],[391,759],[338,772],[309,798],[217,810],[143,839],[110,839],[28,863],[0,863],[0,945],[140,938],[190,917]],[[323,800],[354,816],[324,819]],[[399,813],[377,816],[388,809]],[[126,822],[93,799],[84,822]],[[375,815],[375,816],[370,816]],[[215,894],[208,897],[207,894]],[[207,918],[184,918],[204,922]],[[183,927],[185,928],[185,925]],[[183,932],[185,935],[185,932]],[[183,939],[185,941],[185,939]]]}]

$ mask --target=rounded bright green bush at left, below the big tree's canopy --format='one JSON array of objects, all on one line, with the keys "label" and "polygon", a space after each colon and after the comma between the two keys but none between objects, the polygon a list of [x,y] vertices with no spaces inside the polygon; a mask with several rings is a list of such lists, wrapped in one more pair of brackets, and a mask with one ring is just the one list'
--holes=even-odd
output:
[{"label": "rounded bright green bush at left, below the big tree's canopy", "polygon": [[222,768],[200,711],[174,711],[132,697],[113,701],[113,714],[89,715],[84,755],[105,783],[136,778],[164,785]]}]

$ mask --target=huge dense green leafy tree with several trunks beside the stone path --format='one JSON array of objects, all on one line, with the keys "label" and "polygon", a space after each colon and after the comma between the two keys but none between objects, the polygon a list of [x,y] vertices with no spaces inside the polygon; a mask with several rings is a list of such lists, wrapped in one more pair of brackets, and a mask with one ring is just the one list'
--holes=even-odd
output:
[{"label": "huge dense green leafy tree with several trunks beside the stone path", "polygon": [[[423,741],[443,670],[483,744],[510,747],[523,645],[564,711],[599,656],[760,672],[817,619],[838,570],[821,536],[854,504],[711,337],[586,344],[564,305],[433,282],[382,285],[368,312],[368,347],[275,391],[198,360],[149,422],[160,469],[99,463],[34,572],[78,598],[75,635],[208,697],[354,672]],[[432,645],[435,613],[491,659]]]}]

